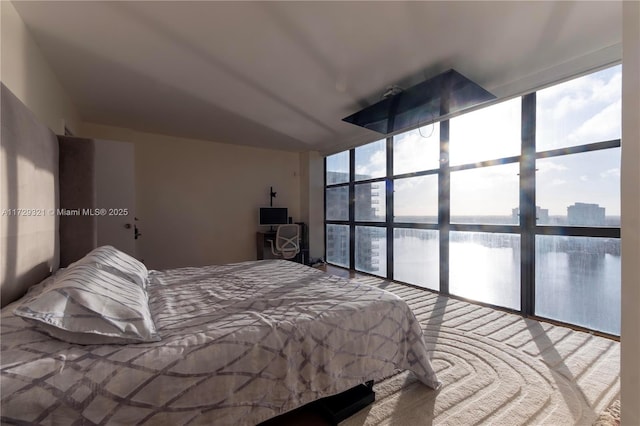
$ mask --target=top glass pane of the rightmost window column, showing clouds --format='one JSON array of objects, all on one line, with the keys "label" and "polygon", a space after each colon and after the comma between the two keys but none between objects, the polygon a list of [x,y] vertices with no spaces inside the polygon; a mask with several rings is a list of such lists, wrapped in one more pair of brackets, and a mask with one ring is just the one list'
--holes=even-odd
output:
[{"label": "top glass pane of the rightmost window column, showing clouds", "polygon": [[538,151],[619,139],[622,66],[607,68],[536,94]]}]

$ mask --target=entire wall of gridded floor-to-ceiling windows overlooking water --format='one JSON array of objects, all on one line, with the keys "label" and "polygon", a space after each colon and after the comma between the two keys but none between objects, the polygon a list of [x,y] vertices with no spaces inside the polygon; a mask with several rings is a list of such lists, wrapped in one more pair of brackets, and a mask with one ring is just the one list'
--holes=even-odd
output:
[{"label": "entire wall of gridded floor-to-ceiling windows overlooking water", "polygon": [[326,260],[620,333],[621,66],[326,158]]}]

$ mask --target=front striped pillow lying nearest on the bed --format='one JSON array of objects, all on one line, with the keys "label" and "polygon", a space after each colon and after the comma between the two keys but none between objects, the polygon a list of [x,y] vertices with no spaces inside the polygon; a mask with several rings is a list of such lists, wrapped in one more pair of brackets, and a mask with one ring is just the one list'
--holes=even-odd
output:
[{"label": "front striped pillow lying nearest on the bed", "polygon": [[160,340],[145,290],[96,265],[74,265],[14,313],[47,334],[83,345]]}]

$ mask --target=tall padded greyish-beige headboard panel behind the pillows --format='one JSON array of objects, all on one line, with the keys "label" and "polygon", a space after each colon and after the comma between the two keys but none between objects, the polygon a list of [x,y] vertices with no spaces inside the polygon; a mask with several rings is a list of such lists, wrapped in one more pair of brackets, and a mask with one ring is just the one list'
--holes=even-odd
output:
[{"label": "tall padded greyish-beige headboard panel behind the pillows", "polygon": [[58,139],[2,84],[0,297],[6,304],[58,269]]}]

